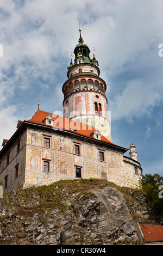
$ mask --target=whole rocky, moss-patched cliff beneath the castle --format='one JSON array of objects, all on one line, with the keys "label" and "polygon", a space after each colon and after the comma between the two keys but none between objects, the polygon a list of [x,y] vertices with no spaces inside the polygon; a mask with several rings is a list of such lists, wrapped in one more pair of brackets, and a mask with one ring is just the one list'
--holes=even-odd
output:
[{"label": "whole rocky, moss-patched cliff beneath the castle", "polygon": [[145,194],[102,179],[5,192],[0,245],[138,245],[137,221],[156,222]]}]

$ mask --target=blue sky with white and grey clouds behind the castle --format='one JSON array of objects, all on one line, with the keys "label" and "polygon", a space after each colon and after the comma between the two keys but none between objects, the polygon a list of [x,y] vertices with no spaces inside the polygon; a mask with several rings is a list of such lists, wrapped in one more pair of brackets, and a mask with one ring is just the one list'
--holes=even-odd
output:
[{"label": "blue sky with white and grey clouds behind the castle", "polygon": [[161,0],[1,0],[0,143],[39,97],[40,109],[62,113],[80,22],[107,84],[112,142],[134,143],[143,174],[163,175],[162,9]]}]

